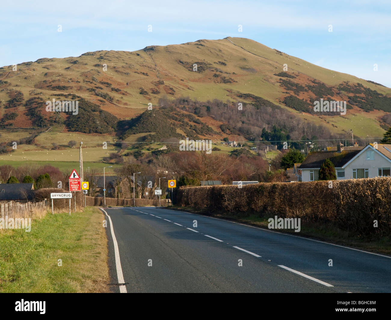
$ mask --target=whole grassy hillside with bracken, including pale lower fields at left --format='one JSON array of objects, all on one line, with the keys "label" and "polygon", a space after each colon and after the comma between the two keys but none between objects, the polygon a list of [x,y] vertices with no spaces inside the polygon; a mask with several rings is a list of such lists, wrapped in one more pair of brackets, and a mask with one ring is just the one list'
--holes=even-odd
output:
[{"label": "whole grassy hillside with bracken, including pale lower fields at left", "polygon": [[[77,156],[75,148],[72,151],[66,146],[71,139],[85,141],[89,160],[100,161],[115,151],[118,138],[128,143],[166,142],[167,137],[180,136],[215,141],[226,136],[249,138],[221,131],[228,116],[216,120],[206,114],[194,122],[188,109],[157,110],[162,100],[180,97],[204,102],[218,99],[233,106],[241,102],[255,105],[261,112],[270,104],[272,109],[289,111],[291,122],[300,119],[323,125],[343,139],[350,129],[355,138],[381,137],[391,125],[384,117],[391,111],[390,88],[321,68],[245,38],[42,58],[18,64],[16,71],[4,66],[0,79],[0,145],[35,138],[33,145],[20,145],[12,155],[0,154],[0,160],[70,161]],[[53,98],[78,100],[79,113],[47,112],[45,102]],[[347,100],[346,114],[314,113],[313,102],[320,98]],[[147,113],[137,118],[148,106],[156,111],[154,116],[159,114],[159,121],[152,123]],[[100,147],[104,141],[110,142],[110,149]],[[53,143],[58,150],[52,150]]]}]

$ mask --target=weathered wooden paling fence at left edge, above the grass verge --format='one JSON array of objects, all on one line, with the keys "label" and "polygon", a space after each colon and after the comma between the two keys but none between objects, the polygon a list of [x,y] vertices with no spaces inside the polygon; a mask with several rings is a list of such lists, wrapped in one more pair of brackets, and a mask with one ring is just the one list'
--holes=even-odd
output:
[{"label": "weathered wooden paling fence at left edge, above the grass verge", "polygon": [[47,211],[45,201],[40,202],[5,202],[0,204],[0,218],[35,218]]}]

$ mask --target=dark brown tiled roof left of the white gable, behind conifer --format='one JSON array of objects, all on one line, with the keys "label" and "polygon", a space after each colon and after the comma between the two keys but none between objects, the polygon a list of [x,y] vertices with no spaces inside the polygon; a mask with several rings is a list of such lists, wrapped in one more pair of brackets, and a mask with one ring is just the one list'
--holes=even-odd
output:
[{"label": "dark brown tiled roof left of the white gable, behind conifer", "polygon": [[325,162],[326,159],[334,164],[335,168],[341,168],[345,163],[353,159],[364,147],[359,150],[338,151],[314,151],[310,152],[304,161],[300,164],[300,169],[317,169]]}]

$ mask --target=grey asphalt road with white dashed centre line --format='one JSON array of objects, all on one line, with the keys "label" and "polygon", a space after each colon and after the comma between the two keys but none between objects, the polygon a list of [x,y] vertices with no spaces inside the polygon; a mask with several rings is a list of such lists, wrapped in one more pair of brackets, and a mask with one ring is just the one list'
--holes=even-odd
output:
[{"label": "grey asphalt road with white dashed centre line", "polygon": [[115,292],[391,292],[388,256],[181,211],[104,211]]}]

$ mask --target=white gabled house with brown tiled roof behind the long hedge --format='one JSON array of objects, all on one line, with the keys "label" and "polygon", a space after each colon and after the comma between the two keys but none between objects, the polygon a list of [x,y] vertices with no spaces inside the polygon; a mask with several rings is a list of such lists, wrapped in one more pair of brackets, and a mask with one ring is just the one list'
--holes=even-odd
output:
[{"label": "white gabled house with brown tiled roof behind the long hedge", "polygon": [[391,145],[369,143],[365,147],[343,147],[310,152],[300,164],[302,181],[318,180],[321,164],[329,159],[337,180],[391,175]]}]

